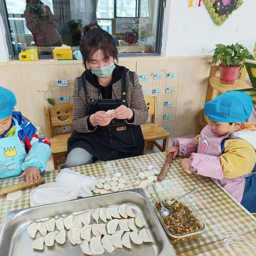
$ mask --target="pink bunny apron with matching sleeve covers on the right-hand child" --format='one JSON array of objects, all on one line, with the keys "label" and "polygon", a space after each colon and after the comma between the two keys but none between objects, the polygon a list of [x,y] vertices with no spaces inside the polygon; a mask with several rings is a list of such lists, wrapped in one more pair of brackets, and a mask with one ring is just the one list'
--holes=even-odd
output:
[{"label": "pink bunny apron with matching sleeve covers on the right-hand child", "polygon": [[225,178],[219,156],[221,156],[224,142],[229,134],[217,137],[206,125],[201,131],[199,143],[195,139],[177,139],[173,146],[179,146],[179,156],[191,156],[191,171],[206,177],[217,179],[220,185],[225,188],[239,203],[242,201],[245,178]]}]

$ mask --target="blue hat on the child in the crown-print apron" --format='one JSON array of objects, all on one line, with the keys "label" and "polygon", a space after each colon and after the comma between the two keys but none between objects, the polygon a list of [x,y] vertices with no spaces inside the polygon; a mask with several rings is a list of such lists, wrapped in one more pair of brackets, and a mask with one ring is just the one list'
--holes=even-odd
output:
[{"label": "blue hat on the child in the crown-print apron", "polygon": [[11,116],[16,104],[17,101],[14,93],[0,86],[0,119]]}]

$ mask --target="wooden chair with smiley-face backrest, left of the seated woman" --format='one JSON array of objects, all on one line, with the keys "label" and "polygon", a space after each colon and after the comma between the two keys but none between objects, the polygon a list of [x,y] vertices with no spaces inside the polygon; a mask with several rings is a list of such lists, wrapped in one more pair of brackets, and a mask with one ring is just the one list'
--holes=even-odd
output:
[{"label": "wooden chair with smiley-face backrest, left of the seated woman", "polygon": [[47,130],[50,137],[54,169],[58,169],[58,165],[65,162],[67,152],[67,141],[71,132],[57,134],[60,126],[72,124],[73,104],[57,103],[55,106],[44,107]]}]

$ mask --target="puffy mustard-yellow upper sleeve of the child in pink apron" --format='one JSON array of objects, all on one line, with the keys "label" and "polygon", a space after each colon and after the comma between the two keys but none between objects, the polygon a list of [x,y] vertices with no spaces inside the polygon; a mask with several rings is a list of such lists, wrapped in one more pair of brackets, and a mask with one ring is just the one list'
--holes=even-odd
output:
[{"label": "puffy mustard-yellow upper sleeve of the child in pink apron", "polygon": [[225,153],[220,156],[220,162],[225,178],[236,178],[253,170],[256,163],[256,153],[246,140],[226,140]]}]

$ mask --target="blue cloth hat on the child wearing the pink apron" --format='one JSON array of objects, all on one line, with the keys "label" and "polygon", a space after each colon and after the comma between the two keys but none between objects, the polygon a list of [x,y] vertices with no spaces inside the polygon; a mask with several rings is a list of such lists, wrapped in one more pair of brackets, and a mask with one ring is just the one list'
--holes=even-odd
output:
[{"label": "blue cloth hat on the child wearing the pink apron", "polygon": [[204,103],[204,114],[216,122],[246,122],[252,114],[252,99],[244,92],[225,92]]}]

